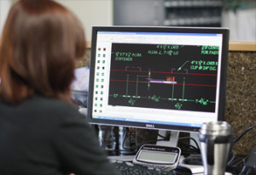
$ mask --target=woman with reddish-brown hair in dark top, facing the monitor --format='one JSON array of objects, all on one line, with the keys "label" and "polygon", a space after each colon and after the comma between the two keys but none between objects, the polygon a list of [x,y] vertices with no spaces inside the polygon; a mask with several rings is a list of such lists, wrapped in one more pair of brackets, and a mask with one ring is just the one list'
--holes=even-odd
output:
[{"label": "woman with reddish-brown hair in dark top, facing the monitor", "polygon": [[20,0],[0,42],[0,174],[116,174],[73,106],[84,54],[77,18],[50,0]]}]

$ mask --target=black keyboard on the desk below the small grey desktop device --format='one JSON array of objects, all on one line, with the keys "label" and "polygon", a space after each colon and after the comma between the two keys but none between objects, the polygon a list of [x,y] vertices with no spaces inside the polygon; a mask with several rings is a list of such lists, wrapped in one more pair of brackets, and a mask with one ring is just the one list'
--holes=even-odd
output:
[{"label": "black keyboard on the desk below the small grey desktop device", "polygon": [[187,175],[189,172],[175,169],[170,172],[166,172],[164,169],[154,167],[143,167],[137,164],[133,164],[130,161],[110,161],[114,167],[123,175]]}]

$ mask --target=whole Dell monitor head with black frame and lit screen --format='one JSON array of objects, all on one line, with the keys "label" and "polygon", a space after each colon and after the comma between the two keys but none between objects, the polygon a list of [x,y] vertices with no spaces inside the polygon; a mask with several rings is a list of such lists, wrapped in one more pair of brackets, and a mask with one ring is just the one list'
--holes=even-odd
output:
[{"label": "whole Dell monitor head with black frame and lit screen", "polygon": [[229,30],[93,27],[88,121],[197,132],[224,115]]}]

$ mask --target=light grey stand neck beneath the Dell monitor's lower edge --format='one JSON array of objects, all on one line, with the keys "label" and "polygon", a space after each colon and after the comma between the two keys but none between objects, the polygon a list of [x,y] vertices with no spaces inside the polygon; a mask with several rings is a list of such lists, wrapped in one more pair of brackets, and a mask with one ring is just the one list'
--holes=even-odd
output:
[{"label": "light grey stand neck beneath the Dell monitor's lower edge", "polygon": [[[158,141],[156,142],[156,145],[177,147],[179,132],[159,130],[158,133],[159,133],[159,136],[157,137]],[[163,140],[163,137],[168,139]]]}]

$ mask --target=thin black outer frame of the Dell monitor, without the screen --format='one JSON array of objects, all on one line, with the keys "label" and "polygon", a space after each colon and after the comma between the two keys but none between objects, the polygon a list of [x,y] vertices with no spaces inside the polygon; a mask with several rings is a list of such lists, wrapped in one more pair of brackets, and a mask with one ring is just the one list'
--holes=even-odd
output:
[{"label": "thin black outer frame of the Dell monitor, without the screen", "polygon": [[172,26],[93,26],[91,36],[91,48],[90,48],[90,84],[89,84],[89,95],[87,105],[87,121],[90,124],[97,125],[112,125],[119,127],[139,127],[148,129],[159,129],[159,130],[171,130],[171,131],[182,131],[182,132],[199,132],[201,127],[183,127],[173,125],[162,125],[155,123],[143,123],[136,121],[113,121],[104,119],[94,119],[92,115],[92,100],[94,91],[94,67],[96,62],[96,37],[97,31],[145,31],[145,32],[179,32],[179,33],[219,33],[223,34],[223,49],[221,59],[221,70],[220,70],[220,89],[218,99],[218,121],[224,120],[224,104],[225,104],[225,88],[227,78],[227,63],[228,63],[228,50],[229,50],[229,34],[228,28],[222,27],[172,27]]}]

